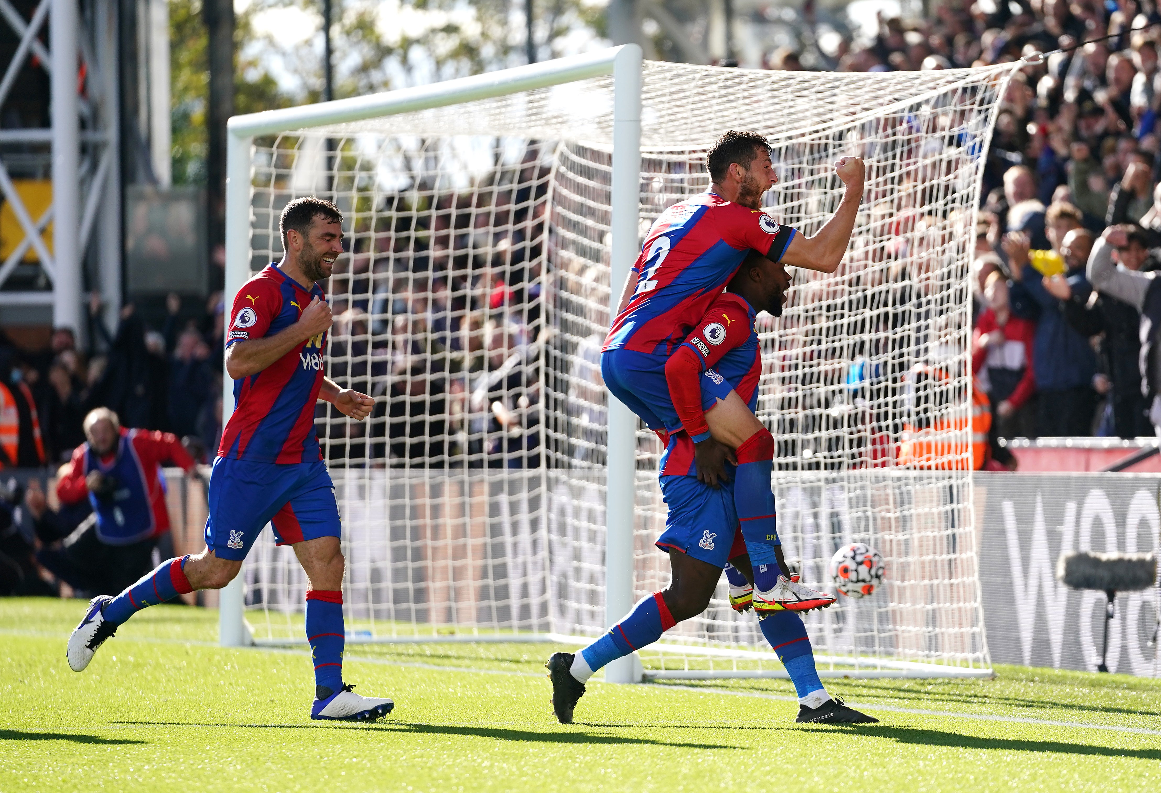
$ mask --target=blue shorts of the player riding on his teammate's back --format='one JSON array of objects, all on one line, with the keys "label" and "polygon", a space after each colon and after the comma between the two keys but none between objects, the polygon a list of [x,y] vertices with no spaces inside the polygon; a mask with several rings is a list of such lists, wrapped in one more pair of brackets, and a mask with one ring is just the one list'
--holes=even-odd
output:
[{"label": "blue shorts of the player riding on his teammate's back", "polygon": [[[600,354],[600,376],[616,399],[625,402],[652,431],[676,432],[682,420],[673,408],[673,398],[665,381],[666,356],[636,350],[608,350]],[[714,370],[701,377],[701,407],[708,409],[734,390],[729,380]]]}]

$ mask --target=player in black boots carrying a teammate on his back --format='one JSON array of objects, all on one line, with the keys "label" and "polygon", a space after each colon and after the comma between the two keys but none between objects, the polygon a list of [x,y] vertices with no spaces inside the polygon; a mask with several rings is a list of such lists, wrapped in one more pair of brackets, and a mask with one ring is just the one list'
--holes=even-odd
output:
[{"label": "player in black boots carrying a teammate on his back", "polygon": [[[750,570],[744,547],[735,538],[738,515],[733,487],[695,468],[690,434],[705,431],[705,409],[726,394],[741,394],[751,409],[755,407],[762,373],[755,315],[758,311],[781,314],[788,288],[789,277],[781,264],[751,254],[730,282],[730,293],[712,304],[671,356],[666,380],[686,430],[670,436],[662,456],[661,487],[669,515],[657,546],[669,552],[672,581],[665,591],[639,602],[628,617],[580,653],[556,653],[549,659],[553,707],[562,723],[571,722],[584,684],[597,669],[657,641],[677,623],[705,611],[728,561],[734,561],[733,573]],[[727,377],[734,378],[736,391]],[[773,521],[769,526],[777,553],[780,543]],[[827,694],[815,670],[810,640],[796,614],[763,604],[759,616],[763,634],[799,692],[799,721],[875,721]]]}]

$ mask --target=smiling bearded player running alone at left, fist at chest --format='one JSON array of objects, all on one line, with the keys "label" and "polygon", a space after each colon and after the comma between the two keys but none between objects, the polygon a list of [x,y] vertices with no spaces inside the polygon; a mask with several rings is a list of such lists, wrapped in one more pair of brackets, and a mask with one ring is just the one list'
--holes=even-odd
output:
[{"label": "smiling bearded player running alone at left, fist at chest", "polygon": [[374,400],[323,376],[331,307],[318,281],[342,254],[342,216],[320,198],[282,210],[286,255],[238,291],[225,368],[235,412],[214,461],[205,550],[171,559],[116,597],[99,595],[68,638],[81,671],[122,623],[145,606],[195,589],[221,589],[241,569],[262,526],[290,545],[307,573],[307,639],[315,664],[311,719],[377,719],[390,699],[361,697],[342,682],[342,554],[334,485],[315,435],[322,399],[362,421]]}]

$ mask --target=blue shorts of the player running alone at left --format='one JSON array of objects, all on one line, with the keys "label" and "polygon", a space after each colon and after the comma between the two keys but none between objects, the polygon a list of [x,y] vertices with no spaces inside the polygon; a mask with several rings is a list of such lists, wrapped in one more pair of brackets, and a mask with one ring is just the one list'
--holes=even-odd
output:
[{"label": "blue shorts of the player running alone at left", "polygon": [[279,545],[340,533],[334,483],[322,460],[279,465],[214,460],[205,545],[218,559],[241,560],[269,523]]}]

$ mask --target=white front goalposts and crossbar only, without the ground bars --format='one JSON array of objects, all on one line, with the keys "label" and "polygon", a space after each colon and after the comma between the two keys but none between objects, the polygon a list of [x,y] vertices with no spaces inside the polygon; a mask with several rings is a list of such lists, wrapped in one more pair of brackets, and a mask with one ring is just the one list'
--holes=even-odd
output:
[{"label": "white front goalposts and crossbar only, without the ground bars", "polygon": [[[250,235],[253,201],[254,138],[331,124],[392,116],[401,112],[460,104],[597,77],[613,78],[612,224],[610,312],[616,313],[618,285],[623,284],[637,257],[641,180],[642,50],[623,44],[597,52],[541,64],[447,80],[430,86],[266,110],[233,116],[226,124],[225,289],[224,305],[251,277]],[[223,371],[222,421],[233,413],[233,380]],[[613,626],[633,608],[633,522],[636,473],[636,416],[615,399],[608,400],[605,540],[605,625]],[[218,630],[223,647],[253,645],[245,621],[245,590],[238,575],[221,590]],[[479,636],[473,640],[479,641]],[[641,679],[633,655],[605,667],[610,683]]]}]

